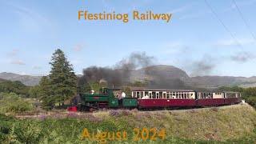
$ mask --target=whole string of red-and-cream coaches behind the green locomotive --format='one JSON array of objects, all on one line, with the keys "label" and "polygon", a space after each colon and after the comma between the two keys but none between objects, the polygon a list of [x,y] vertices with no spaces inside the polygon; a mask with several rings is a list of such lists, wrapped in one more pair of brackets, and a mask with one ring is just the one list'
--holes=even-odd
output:
[{"label": "whole string of red-and-cream coaches behind the green locomotive", "polygon": [[132,98],[138,98],[138,106],[172,107],[172,106],[221,106],[238,103],[238,92],[197,92],[194,90],[158,90],[134,89]]}]

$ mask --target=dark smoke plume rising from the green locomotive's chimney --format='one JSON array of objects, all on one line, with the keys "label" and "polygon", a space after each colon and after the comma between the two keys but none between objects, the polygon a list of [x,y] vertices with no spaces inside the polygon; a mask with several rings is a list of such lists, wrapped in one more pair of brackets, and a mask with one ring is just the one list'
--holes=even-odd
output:
[{"label": "dark smoke plume rising from the green locomotive's chimney", "polygon": [[122,86],[130,81],[130,72],[141,67],[150,66],[154,57],[147,56],[145,52],[134,52],[128,58],[117,62],[113,68],[90,66],[83,70],[83,75],[78,78],[79,85],[86,82],[106,81],[110,86]]}]

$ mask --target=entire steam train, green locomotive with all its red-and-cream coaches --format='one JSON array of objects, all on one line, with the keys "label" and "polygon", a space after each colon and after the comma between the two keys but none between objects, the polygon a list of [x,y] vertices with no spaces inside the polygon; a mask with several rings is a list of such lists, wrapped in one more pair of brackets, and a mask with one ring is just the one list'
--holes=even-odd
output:
[{"label": "entire steam train, green locomotive with all its red-and-cream coaches", "polygon": [[98,94],[78,94],[71,100],[68,111],[104,109],[158,109],[196,106],[222,106],[241,102],[241,94],[233,91],[201,92],[195,90],[132,89],[131,97],[119,100],[119,89],[102,88]]}]

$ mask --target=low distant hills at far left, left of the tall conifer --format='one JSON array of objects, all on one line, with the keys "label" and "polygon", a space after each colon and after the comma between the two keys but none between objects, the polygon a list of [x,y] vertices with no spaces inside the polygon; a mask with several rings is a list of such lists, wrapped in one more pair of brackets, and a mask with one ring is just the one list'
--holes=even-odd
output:
[{"label": "low distant hills at far left, left of the tall conifer", "polygon": [[0,73],[0,78],[10,80],[10,81],[20,81],[26,86],[38,85],[42,76],[30,76],[30,75],[20,75],[14,73]]}]

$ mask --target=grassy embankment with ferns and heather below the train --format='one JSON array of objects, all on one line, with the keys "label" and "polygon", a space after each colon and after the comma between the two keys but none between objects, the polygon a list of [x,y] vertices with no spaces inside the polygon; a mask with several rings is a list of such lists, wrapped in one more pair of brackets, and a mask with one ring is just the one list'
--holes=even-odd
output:
[{"label": "grassy embankment with ferns and heather below the train", "polygon": [[[128,140],[108,143],[254,143],[256,111],[249,105],[199,110],[110,110],[90,114],[42,115],[38,118],[0,116],[3,143],[98,143],[85,138],[90,132],[126,131]],[[166,139],[134,141],[134,128],[165,129]],[[141,132],[141,131],[140,131]],[[91,134],[91,133],[90,133]],[[150,137],[153,133],[150,133]]]}]

